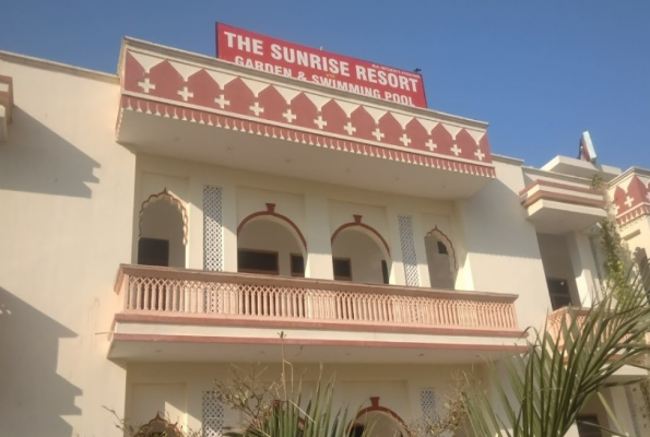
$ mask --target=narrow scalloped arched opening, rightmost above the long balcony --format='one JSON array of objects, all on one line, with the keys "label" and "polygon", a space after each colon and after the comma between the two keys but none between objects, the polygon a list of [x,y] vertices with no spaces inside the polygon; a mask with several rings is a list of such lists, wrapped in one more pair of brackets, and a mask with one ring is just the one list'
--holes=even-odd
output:
[{"label": "narrow scalloped arched opening, rightmost above the long balcony", "polygon": [[456,253],[451,241],[437,227],[424,237],[432,288],[456,288]]}]

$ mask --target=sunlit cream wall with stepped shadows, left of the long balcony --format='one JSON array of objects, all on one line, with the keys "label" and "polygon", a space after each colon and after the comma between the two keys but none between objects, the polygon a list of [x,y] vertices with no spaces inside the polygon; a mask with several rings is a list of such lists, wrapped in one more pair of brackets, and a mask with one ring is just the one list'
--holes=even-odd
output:
[{"label": "sunlit cream wall with stepped shadows, left of the long balcony", "polygon": [[[106,359],[131,260],[134,155],[115,142],[117,79],[0,61],[0,435],[117,436],[126,369]],[[108,81],[108,82],[107,82]]]}]

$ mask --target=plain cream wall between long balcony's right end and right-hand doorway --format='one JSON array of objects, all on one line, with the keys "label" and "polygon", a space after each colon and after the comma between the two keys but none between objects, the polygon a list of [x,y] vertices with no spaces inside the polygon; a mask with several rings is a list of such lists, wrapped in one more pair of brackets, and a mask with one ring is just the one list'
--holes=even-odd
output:
[{"label": "plain cream wall between long balcony's right end and right-hand doorway", "polygon": [[541,324],[551,300],[534,226],[523,217],[519,165],[495,162],[498,179],[458,202],[466,255],[464,281],[473,290],[519,295],[519,326]]}]

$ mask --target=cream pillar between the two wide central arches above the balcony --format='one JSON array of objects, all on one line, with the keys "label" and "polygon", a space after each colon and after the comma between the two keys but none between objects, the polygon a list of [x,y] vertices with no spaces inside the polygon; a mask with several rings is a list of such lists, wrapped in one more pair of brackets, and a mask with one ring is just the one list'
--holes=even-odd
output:
[{"label": "cream pillar between the two wide central arches above the balcony", "polygon": [[323,192],[310,191],[305,196],[307,251],[305,277],[333,280],[332,232],[328,199]]}]

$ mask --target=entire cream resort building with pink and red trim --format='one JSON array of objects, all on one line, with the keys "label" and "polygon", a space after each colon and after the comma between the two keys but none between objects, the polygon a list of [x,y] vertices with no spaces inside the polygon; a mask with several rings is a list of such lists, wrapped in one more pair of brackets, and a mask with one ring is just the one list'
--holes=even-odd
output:
[{"label": "entire cream resort building with pink and red trim", "polygon": [[[483,121],[131,38],[117,74],[0,52],[0,436],[120,435],[104,406],[216,436],[241,417],[213,380],[282,349],[405,435],[591,304],[594,175],[650,253],[650,170],[592,155],[531,168]],[[606,395],[650,433],[640,392]]]}]

